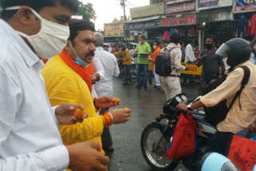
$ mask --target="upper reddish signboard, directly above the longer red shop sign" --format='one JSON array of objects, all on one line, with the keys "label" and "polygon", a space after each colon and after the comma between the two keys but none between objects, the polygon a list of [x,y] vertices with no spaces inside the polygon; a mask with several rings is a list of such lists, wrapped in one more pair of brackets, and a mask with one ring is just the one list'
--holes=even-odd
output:
[{"label": "upper reddish signboard, directly above the longer red shop sign", "polygon": [[195,2],[182,2],[166,6],[167,14],[195,10]]}]

